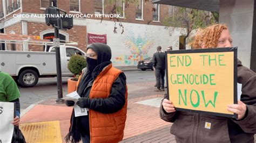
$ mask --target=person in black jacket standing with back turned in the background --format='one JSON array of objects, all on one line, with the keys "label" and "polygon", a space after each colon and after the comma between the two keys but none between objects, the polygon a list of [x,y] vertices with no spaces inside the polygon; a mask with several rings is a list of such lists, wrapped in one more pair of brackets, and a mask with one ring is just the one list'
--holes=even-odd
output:
[{"label": "person in black jacket standing with back turned in the background", "polygon": [[164,91],[165,53],[161,51],[161,46],[158,46],[157,52],[153,54],[153,67],[156,69],[156,91]]}]

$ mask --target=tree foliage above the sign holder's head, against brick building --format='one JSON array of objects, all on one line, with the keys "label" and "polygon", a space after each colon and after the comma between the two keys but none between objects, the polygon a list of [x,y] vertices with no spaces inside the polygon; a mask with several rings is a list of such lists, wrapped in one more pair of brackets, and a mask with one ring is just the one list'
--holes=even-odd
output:
[{"label": "tree foliage above the sign holder's head, against brick building", "polygon": [[[190,35],[192,30],[218,22],[219,14],[217,12],[181,8],[178,6],[172,6],[172,8],[171,15],[164,19],[163,25],[168,27],[185,27],[186,32],[181,33],[185,36],[185,39]],[[184,40],[184,45],[186,45],[185,42]]]}]

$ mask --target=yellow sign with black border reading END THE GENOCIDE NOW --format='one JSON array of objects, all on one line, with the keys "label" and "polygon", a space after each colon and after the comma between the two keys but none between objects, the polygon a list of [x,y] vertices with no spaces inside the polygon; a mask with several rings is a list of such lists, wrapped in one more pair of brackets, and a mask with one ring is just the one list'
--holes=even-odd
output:
[{"label": "yellow sign with black border reading END THE GENOCIDE NOW", "polygon": [[237,48],[193,49],[166,53],[170,101],[177,110],[236,117]]}]

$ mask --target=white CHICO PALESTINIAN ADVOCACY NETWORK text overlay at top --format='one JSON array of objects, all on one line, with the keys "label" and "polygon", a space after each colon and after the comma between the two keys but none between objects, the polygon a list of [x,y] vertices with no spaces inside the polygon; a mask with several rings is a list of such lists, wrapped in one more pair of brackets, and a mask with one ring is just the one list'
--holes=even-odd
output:
[{"label": "white CHICO PALESTINIAN ADVOCACY NETWORK text overlay at top", "polygon": [[82,14],[82,13],[70,13],[70,14],[36,14],[36,13],[19,13],[14,14],[14,18],[121,18],[120,14]]}]

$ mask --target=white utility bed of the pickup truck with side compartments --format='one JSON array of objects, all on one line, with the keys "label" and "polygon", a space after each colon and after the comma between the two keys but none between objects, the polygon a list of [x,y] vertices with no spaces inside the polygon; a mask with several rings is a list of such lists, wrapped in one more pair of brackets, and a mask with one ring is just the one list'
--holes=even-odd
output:
[{"label": "white utility bed of the pickup truck with side compartments", "polygon": [[1,70],[17,76],[24,67],[38,69],[39,76],[56,75],[56,59],[53,52],[0,51]]}]

